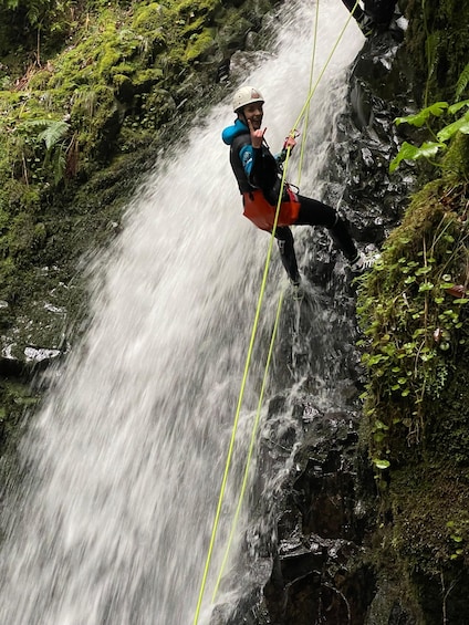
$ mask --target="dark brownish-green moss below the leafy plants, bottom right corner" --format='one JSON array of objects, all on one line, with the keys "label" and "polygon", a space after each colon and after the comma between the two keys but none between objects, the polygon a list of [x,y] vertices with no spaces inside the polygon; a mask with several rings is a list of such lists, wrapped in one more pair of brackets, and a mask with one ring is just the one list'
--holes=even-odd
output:
[{"label": "dark brownish-green moss below the leafy plants, bottom right corner", "polygon": [[[393,472],[389,509],[368,555],[378,571],[381,603],[392,606],[389,595],[399,596],[415,625],[440,625],[444,614],[448,623],[466,622],[468,477],[445,462]],[[378,623],[388,622],[389,611],[383,616]]]}]

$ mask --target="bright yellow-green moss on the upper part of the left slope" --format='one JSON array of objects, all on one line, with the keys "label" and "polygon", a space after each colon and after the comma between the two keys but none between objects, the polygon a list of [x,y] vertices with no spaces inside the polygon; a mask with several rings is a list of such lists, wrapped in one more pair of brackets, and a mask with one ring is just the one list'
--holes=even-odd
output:
[{"label": "bright yellow-green moss on the upper part of the left slope", "polygon": [[[216,0],[139,2],[132,11],[126,2],[97,1],[88,12],[82,9],[73,7],[66,48],[42,66],[31,65],[22,92],[0,94],[0,175],[13,173],[14,179],[38,185],[40,195],[66,176],[90,176],[111,159],[127,118],[145,133],[166,124],[176,105],[190,105],[183,91],[194,91],[194,85],[185,86],[185,80],[194,75],[194,63],[220,45],[211,25],[218,15],[228,13],[232,24],[241,21],[249,28],[244,20],[236,21],[239,11],[227,11]],[[176,76],[181,86],[169,94],[163,86]],[[155,85],[158,90],[152,93]],[[25,126],[19,128],[20,122],[59,122],[64,116],[67,143],[53,154],[44,153]],[[18,131],[6,132],[7,126]]]}]

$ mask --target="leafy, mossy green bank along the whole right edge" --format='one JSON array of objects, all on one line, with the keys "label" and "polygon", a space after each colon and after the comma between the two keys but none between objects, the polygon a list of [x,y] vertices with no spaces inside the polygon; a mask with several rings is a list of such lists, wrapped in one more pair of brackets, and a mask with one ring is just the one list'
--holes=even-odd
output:
[{"label": "leafy, mossy green bank along the whole right edge", "polygon": [[[407,4],[416,11],[407,46],[423,77],[423,110],[396,123],[420,134],[426,127],[430,142],[404,142],[389,169],[416,160],[414,167],[420,160],[431,166],[419,169],[421,190],[381,261],[359,281],[368,374],[361,444],[379,497],[372,555],[379,576],[394,581],[419,625],[462,624],[469,566],[469,9],[445,1]],[[445,115],[458,118],[445,125]]]}]

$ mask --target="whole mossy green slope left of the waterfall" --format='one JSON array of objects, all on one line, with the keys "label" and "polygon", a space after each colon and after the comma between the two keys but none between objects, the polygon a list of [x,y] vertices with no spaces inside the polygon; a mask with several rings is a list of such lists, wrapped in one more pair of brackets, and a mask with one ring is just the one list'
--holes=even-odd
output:
[{"label": "whole mossy green slope left of the waterfall", "polygon": [[0,0],[0,446],[37,368],[25,347],[76,338],[83,258],[104,251],[145,171],[225,95],[218,67],[272,4]]}]

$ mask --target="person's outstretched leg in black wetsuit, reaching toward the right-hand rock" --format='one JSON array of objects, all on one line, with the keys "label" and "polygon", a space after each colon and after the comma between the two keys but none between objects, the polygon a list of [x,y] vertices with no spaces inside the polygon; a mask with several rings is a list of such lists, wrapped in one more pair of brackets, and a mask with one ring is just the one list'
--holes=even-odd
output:
[{"label": "person's outstretched leg in black wetsuit, reaching toward the right-hand rock", "polygon": [[324,226],[344,257],[353,261],[358,256],[348,228],[338,213],[331,207],[315,199],[299,196],[300,213],[295,226]]}]

